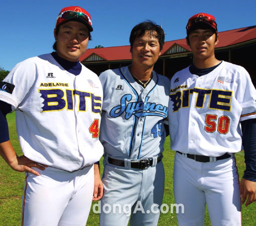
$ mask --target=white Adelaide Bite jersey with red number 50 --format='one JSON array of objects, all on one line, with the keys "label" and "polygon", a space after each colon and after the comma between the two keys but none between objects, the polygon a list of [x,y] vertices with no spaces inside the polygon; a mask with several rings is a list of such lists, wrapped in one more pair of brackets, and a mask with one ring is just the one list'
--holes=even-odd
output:
[{"label": "white Adelaide Bite jersey with red number 50", "polygon": [[248,72],[222,61],[207,75],[189,67],[171,79],[171,148],[182,153],[221,156],[241,150],[240,121],[256,118],[256,91]]}]

